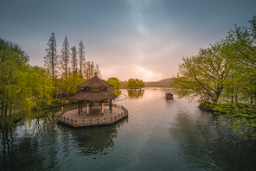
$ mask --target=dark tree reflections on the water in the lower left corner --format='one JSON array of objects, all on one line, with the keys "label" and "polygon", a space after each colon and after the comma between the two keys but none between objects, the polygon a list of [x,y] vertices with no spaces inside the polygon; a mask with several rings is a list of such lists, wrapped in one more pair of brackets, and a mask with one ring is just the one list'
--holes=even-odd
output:
[{"label": "dark tree reflections on the water in the lower left corner", "polygon": [[53,111],[45,112],[46,117],[18,123],[13,132],[0,141],[0,168],[52,170],[58,164],[56,119]]}]

